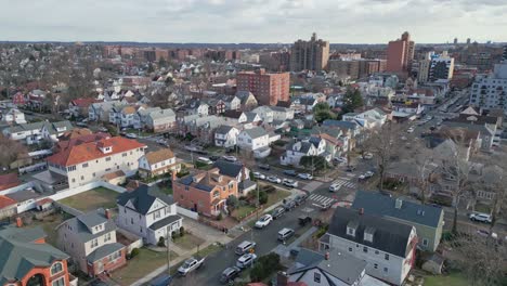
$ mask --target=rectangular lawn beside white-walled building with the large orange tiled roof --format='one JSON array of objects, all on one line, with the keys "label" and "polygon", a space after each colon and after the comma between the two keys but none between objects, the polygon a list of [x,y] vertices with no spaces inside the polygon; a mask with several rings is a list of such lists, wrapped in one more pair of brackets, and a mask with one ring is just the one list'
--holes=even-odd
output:
[{"label": "rectangular lawn beside white-walled building with the large orange tiled roof", "polygon": [[61,204],[81,211],[91,211],[98,208],[116,208],[116,197],[119,193],[105,187],[95,187],[81,194],[64,198]]}]

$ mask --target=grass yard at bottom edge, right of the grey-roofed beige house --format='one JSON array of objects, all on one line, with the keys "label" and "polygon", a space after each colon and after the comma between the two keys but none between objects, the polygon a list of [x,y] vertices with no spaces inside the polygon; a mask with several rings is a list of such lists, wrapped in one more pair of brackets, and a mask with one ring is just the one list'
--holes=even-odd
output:
[{"label": "grass yard at bottom edge, right of the grey-roofed beige house", "polygon": [[[139,256],[127,262],[127,265],[113,272],[113,280],[122,285],[132,285],[150,272],[167,264],[166,252],[155,252],[146,248],[139,249]],[[171,251],[171,260],[178,255]]]}]

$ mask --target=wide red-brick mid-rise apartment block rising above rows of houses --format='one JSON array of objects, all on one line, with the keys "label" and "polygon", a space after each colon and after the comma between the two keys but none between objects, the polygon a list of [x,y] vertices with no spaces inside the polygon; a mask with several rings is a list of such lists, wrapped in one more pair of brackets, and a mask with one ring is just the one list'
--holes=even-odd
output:
[{"label": "wide red-brick mid-rise apartment block rising above rows of houses", "polygon": [[276,105],[278,101],[289,101],[288,73],[268,74],[263,68],[237,74],[237,91],[251,92],[262,105]]}]

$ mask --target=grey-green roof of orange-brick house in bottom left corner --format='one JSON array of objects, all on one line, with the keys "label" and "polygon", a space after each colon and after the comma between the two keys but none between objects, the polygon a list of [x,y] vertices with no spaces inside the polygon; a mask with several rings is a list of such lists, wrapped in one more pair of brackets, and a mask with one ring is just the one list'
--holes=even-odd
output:
[{"label": "grey-green roof of orange-brick house in bottom left corner", "polygon": [[68,255],[49,244],[36,244],[46,237],[41,227],[5,227],[0,230],[0,285],[21,281],[34,268],[49,268]]}]

